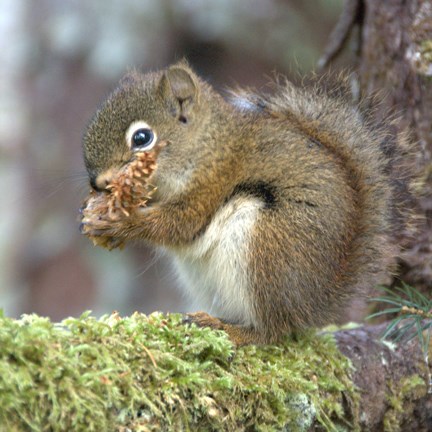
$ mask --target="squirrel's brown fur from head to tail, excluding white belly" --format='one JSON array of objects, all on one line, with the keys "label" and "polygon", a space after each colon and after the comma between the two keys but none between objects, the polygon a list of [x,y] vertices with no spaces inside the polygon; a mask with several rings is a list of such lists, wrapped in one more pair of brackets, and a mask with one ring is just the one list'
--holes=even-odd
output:
[{"label": "squirrel's brown fur from head to tail, excluding white belly", "polygon": [[395,256],[390,239],[404,226],[411,177],[395,176],[405,138],[391,140],[386,125],[368,124],[343,87],[283,81],[273,95],[237,91],[230,103],[185,62],[130,73],[90,124],[85,163],[92,184],[127,163],[125,131],[145,120],[168,143],[153,180],[158,191],[145,211],[101,217],[87,232],[142,239],[181,260],[244,197],[259,211],[251,210],[248,245],[238,255],[246,276],[239,270],[244,278],[231,289],[238,282],[245,290],[252,322],[232,313],[190,320],[226,330],[237,344],[336,321]]}]

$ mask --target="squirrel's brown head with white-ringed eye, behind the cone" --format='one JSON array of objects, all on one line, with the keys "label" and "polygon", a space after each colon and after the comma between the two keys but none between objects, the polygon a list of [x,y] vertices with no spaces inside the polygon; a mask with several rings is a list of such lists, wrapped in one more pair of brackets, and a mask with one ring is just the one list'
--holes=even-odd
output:
[{"label": "squirrel's brown head with white-ringed eye, behind the cone", "polygon": [[[84,161],[90,184],[105,189],[134,152],[166,143],[157,164],[159,189],[181,187],[193,171],[211,121],[214,103],[222,99],[186,62],[161,72],[130,72],[96,112],[84,136]],[[153,181],[152,181],[153,183]]]}]

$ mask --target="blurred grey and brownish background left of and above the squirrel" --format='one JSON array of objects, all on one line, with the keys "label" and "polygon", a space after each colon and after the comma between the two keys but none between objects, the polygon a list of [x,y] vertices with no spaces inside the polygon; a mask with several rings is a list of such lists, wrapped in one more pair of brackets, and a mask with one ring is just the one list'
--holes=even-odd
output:
[{"label": "blurred grey and brownish background left of and above the squirrel", "polygon": [[169,263],[78,231],[81,136],[130,67],[186,57],[223,91],[312,70],[342,0],[0,0],[0,308],[184,311]]}]

